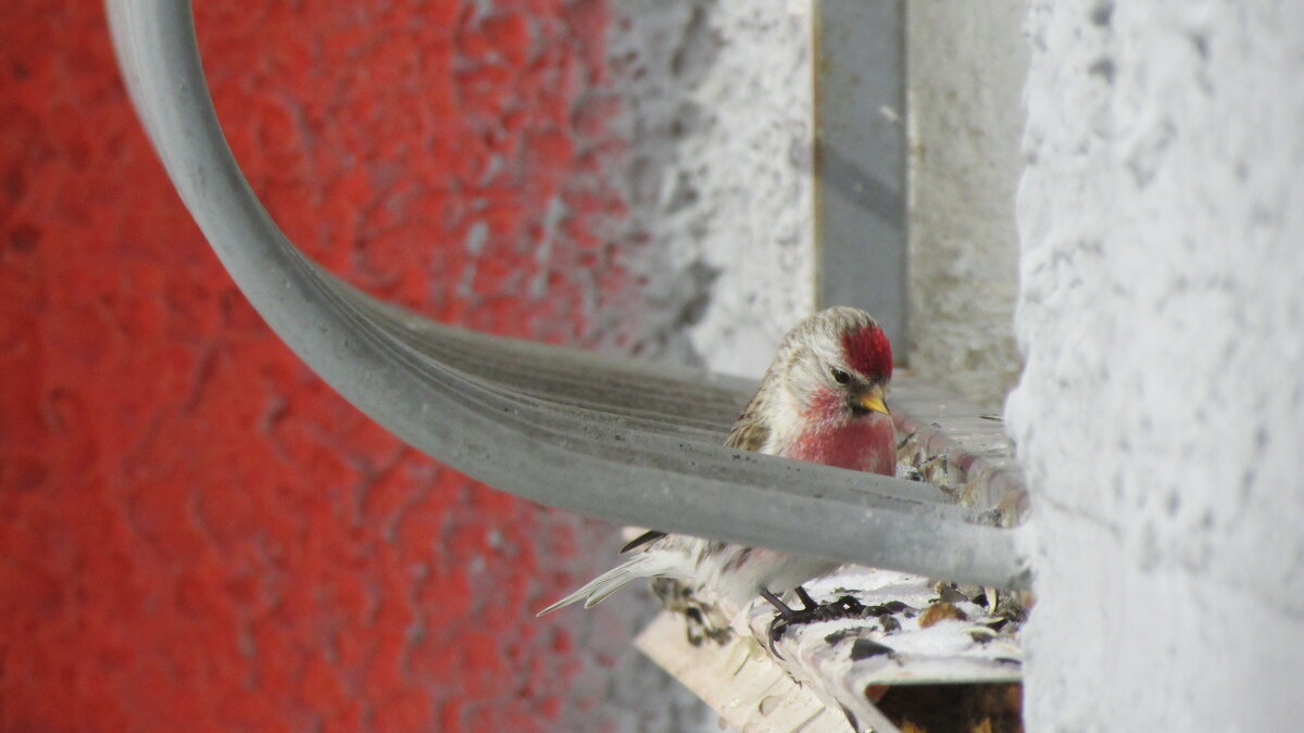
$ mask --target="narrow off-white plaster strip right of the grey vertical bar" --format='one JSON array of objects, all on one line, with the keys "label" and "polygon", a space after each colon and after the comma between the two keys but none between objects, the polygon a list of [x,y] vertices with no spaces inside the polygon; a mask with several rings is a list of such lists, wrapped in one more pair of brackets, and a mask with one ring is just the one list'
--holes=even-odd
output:
[{"label": "narrow off-white plaster strip right of the grey vertical bar", "polygon": [[995,410],[1018,378],[1026,0],[906,7],[910,366]]}]

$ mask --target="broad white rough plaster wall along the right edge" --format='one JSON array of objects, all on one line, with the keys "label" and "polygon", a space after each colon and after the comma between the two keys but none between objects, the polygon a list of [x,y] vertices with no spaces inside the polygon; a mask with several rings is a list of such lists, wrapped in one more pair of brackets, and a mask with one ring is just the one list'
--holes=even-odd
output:
[{"label": "broad white rough plaster wall along the right edge", "polygon": [[1035,730],[1304,720],[1304,4],[1037,0]]}]

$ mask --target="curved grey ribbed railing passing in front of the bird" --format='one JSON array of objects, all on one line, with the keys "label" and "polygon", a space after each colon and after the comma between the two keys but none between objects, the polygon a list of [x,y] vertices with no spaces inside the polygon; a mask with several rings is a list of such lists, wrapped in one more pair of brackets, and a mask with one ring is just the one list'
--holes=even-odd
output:
[{"label": "curved grey ribbed railing passing in front of the bird", "polygon": [[1000,587],[1017,530],[917,483],[722,447],[748,385],[434,323],[305,258],[222,136],[189,3],[108,0],[132,100],[240,290],[327,383],[489,485],[589,516]]}]

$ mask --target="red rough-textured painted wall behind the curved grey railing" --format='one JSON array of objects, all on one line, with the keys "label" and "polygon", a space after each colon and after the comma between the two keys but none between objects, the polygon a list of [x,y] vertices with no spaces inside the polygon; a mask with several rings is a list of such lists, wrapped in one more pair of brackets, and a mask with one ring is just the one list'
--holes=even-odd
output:
[{"label": "red rough-textured painted wall behind the curved grey railing", "polygon": [[[236,157],[310,254],[480,330],[634,329],[601,0],[197,5]],[[533,618],[593,527],[416,455],[276,340],[164,179],[98,3],[4,16],[3,729],[605,725],[572,685],[610,660]]]}]

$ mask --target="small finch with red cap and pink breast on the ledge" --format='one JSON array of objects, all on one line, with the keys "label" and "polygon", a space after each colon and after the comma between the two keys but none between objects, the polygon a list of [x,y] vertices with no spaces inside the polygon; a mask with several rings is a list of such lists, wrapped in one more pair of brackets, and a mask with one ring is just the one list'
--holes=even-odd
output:
[{"label": "small finch with red cap and pink breast on the ledge", "polygon": [[[883,403],[891,378],[892,347],[868,313],[829,308],[810,316],[784,337],[725,445],[891,476],[896,472],[896,433]],[[579,600],[589,608],[636,578],[704,586],[733,612],[759,595],[781,614],[792,614],[780,596],[797,591],[811,609],[801,584],[838,566],[816,557],[657,531],[621,552],[636,548],[643,552],[539,616]]]}]

